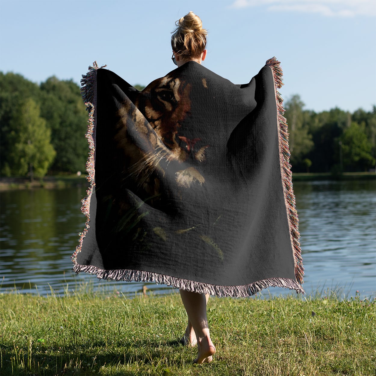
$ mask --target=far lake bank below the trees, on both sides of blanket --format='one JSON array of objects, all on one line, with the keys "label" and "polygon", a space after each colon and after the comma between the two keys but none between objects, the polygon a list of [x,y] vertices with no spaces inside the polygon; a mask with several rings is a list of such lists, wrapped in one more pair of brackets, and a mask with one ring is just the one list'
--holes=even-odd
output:
[{"label": "far lake bank below the trees, on both sides of blanket", "polygon": [[[332,173],[293,173],[293,182],[302,180],[370,180],[376,179],[375,172],[345,172],[333,175]],[[56,175],[45,176],[30,182],[24,177],[1,177],[0,191],[32,189],[32,188],[71,188],[74,186],[89,186],[85,175]]]}]

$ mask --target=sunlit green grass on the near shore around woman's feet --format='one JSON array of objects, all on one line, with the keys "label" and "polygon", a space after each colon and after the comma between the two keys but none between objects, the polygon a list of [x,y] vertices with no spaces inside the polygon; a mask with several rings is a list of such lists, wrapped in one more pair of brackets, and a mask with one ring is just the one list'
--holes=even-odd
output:
[{"label": "sunlit green grass on the near shore around woman's feet", "polygon": [[178,343],[179,294],[2,294],[2,375],[374,375],[375,299],[331,296],[208,302],[214,361]]}]

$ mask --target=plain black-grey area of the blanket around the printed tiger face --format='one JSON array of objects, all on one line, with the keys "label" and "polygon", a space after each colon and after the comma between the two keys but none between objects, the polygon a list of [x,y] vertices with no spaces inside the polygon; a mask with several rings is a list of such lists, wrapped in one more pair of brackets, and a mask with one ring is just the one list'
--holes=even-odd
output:
[{"label": "plain black-grey area of the blanket around the printed tiger face", "polygon": [[[162,190],[158,209],[148,205],[132,182],[124,184],[128,166],[121,162],[124,151],[114,143],[116,113],[136,93],[116,74],[98,70],[98,204],[94,215],[92,197],[90,229],[77,262],[216,285],[245,285],[272,277],[295,280],[270,67],[241,88],[195,62],[172,74],[193,85],[192,118],[202,119],[204,126],[190,128],[188,119],[190,136],[205,137],[213,146],[206,162],[195,165],[205,183],[179,190],[182,196],[177,198],[176,168],[167,169],[171,176],[165,181],[170,186]],[[198,91],[202,78],[208,82],[207,92]],[[119,211],[121,207],[126,210]],[[124,216],[129,220],[119,228]],[[197,227],[176,233],[193,226]],[[165,239],[153,231],[156,227],[164,229]],[[138,228],[146,232],[143,238]]]}]

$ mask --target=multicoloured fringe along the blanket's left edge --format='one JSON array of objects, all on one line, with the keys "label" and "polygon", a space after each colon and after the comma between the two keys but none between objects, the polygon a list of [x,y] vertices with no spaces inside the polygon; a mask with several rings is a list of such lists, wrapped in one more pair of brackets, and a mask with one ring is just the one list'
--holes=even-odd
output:
[{"label": "multicoloured fringe along the blanket's left edge", "polygon": [[[107,65],[102,65],[100,68],[107,67]],[[77,253],[81,251],[82,248],[82,242],[83,238],[85,238],[86,233],[88,232],[90,226],[90,198],[92,191],[95,186],[94,181],[94,175],[95,175],[95,161],[94,161],[94,153],[95,153],[95,140],[94,140],[94,132],[95,132],[95,105],[96,105],[96,73],[98,69],[98,64],[96,61],[94,61],[92,66],[89,66],[88,73],[82,75],[81,79],[81,94],[83,102],[86,106],[86,111],[89,111],[89,119],[88,119],[88,130],[85,134],[85,137],[88,139],[89,144],[89,156],[88,160],[86,161],[86,172],[88,175],[86,176],[86,179],[89,182],[89,188],[86,191],[86,196],[81,200],[81,212],[86,215],[86,222],[85,222],[85,228],[82,232],[79,232],[79,242],[78,246],[76,247],[73,255],[72,255],[72,261],[74,264],[74,267],[76,267],[77,264]],[[93,104],[94,103],[94,104]],[[80,266],[80,265],[79,265]],[[73,267],[73,268],[74,268]]]}]

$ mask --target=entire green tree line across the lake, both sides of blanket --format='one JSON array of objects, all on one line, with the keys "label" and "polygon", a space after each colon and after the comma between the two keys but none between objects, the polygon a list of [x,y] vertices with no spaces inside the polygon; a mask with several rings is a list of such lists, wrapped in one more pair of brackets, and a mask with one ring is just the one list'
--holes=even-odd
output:
[{"label": "entire green tree line across the lake, both sides of blanket", "polygon": [[[143,86],[135,85],[138,89]],[[40,85],[0,72],[0,174],[43,177],[85,170],[88,114],[73,80]],[[293,172],[367,171],[376,155],[376,106],[353,113],[304,109],[298,95],[284,103]]]}]

